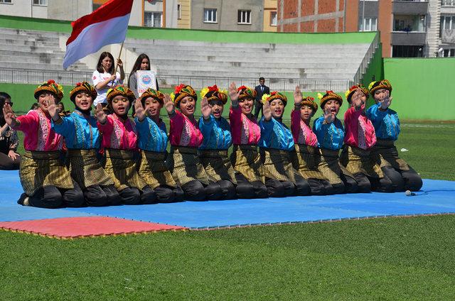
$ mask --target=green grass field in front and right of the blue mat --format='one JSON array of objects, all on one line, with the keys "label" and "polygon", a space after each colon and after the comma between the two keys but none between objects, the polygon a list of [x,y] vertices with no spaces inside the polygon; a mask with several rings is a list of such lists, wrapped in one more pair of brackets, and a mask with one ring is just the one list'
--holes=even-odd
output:
[{"label": "green grass field in front and right of the blue mat", "polygon": [[[454,135],[403,124],[397,148],[422,177],[455,180]],[[454,231],[451,215],[73,241],[0,231],[0,300],[454,300]]]}]

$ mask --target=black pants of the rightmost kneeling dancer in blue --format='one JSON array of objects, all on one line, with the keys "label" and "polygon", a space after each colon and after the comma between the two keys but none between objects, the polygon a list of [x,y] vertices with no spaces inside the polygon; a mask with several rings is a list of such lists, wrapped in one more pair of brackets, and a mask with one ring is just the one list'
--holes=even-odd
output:
[{"label": "black pants of the rightmost kneeling dancer in blue", "polygon": [[392,181],[394,191],[419,191],[422,188],[422,177],[411,167],[410,170],[396,170],[392,166],[385,166],[381,169],[382,173]]}]

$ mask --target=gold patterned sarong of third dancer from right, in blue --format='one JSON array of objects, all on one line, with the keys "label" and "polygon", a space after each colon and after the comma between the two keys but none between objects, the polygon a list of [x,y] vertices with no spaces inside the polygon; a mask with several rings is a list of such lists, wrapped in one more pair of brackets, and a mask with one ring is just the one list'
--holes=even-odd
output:
[{"label": "gold patterned sarong of third dancer from right, in blue", "polygon": [[319,161],[318,169],[321,171],[322,175],[328,179],[328,182],[330,182],[331,185],[341,183],[341,173],[354,178],[354,176],[340,164],[338,150],[333,151],[328,148],[320,148],[319,153],[321,154],[321,160]]}]

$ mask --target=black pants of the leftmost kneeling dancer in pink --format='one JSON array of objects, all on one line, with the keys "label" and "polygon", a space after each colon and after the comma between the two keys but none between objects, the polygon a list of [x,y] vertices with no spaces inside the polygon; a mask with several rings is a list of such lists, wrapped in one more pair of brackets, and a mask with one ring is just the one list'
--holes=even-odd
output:
[{"label": "black pants of the leftmost kneeling dancer in pink", "polygon": [[[28,204],[40,208],[81,207],[84,204],[84,194],[79,185],[73,181],[74,188],[63,190],[48,185],[38,189],[28,198]],[[23,197],[21,197],[22,199]]]}]

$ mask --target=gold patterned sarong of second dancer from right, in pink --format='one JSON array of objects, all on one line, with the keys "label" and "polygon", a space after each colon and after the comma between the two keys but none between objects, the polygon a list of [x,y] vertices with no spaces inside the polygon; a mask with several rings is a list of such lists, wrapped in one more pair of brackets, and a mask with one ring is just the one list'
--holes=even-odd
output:
[{"label": "gold patterned sarong of second dancer from right, in pink", "polygon": [[363,173],[379,179],[384,177],[380,165],[371,159],[370,151],[362,148],[344,145],[340,155],[340,163],[352,174]]}]

